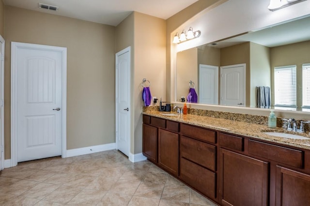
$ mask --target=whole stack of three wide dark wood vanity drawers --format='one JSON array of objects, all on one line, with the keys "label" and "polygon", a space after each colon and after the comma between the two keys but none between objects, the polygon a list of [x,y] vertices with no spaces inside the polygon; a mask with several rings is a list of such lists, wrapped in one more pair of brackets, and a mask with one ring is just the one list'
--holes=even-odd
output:
[{"label": "whole stack of three wide dark wood vanity drawers", "polygon": [[[180,179],[212,200],[217,198],[216,132],[181,124]],[[185,136],[186,135],[186,136]]]}]

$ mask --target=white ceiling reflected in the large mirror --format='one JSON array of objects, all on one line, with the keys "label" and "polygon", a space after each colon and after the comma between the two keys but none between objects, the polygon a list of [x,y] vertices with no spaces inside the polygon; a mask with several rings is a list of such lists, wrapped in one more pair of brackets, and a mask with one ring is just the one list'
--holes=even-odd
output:
[{"label": "white ceiling reflected in the large mirror", "polygon": [[244,35],[219,41],[216,45],[209,45],[217,48],[223,48],[244,42],[254,42],[268,47],[275,47],[309,40],[310,16],[267,29],[248,32]]}]

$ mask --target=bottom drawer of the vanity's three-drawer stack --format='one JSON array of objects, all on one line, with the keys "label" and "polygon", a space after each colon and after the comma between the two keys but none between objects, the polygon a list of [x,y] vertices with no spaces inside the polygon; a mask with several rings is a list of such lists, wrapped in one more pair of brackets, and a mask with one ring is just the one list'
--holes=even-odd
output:
[{"label": "bottom drawer of the vanity's three-drawer stack", "polygon": [[184,158],[180,160],[180,178],[202,194],[215,198],[216,174]]}]

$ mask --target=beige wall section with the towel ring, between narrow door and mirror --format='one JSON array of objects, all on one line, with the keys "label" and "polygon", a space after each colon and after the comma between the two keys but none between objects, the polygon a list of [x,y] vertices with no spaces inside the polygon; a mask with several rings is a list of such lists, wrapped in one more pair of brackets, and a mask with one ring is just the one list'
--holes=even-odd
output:
[{"label": "beige wall section with the towel ring, between narrow door and mirror", "polygon": [[166,99],[166,21],[134,12],[134,154],[142,152],[142,79],[151,82],[151,93]]}]

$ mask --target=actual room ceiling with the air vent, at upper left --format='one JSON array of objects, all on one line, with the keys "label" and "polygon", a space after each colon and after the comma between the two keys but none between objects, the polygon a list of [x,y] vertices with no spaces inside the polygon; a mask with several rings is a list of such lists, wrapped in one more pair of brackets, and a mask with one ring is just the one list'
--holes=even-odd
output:
[{"label": "actual room ceiling with the air vent, at upper left", "polygon": [[[132,11],[168,19],[198,0],[3,0],[5,5],[117,26]],[[39,8],[58,6],[58,11]]]}]

